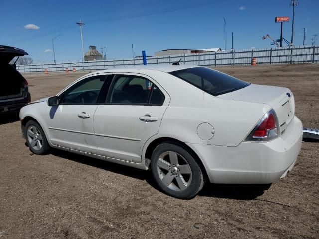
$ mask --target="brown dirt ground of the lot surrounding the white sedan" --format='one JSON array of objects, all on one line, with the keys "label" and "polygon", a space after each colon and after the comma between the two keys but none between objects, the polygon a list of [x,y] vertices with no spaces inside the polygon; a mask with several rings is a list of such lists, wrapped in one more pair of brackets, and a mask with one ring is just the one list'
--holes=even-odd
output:
[{"label": "brown dirt ground of the lot surrounding the white sedan", "polygon": [[[303,125],[319,128],[319,64],[217,69],[289,87]],[[24,74],[32,100],[81,75]],[[58,150],[33,155],[17,120],[0,116],[0,239],[319,238],[319,142],[304,142],[292,172],[268,190],[207,185],[178,200],[150,172]]]}]

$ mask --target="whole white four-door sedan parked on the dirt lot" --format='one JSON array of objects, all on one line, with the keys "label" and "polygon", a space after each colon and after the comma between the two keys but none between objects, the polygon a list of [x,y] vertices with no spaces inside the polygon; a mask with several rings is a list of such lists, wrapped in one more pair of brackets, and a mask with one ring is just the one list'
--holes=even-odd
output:
[{"label": "whole white four-door sedan parked on the dirt lot", "polygon": [[30,150],[52,148],[151,168],[160,189],[194,197],[204,182],[269,184],[297,159],[302,123],[288,88],[206,67],[92,72],[20,111]]}]

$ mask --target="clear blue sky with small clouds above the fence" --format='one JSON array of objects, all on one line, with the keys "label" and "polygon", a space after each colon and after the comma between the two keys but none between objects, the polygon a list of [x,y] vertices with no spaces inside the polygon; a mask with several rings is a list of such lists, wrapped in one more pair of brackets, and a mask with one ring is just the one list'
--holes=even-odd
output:
[{"label": "clear blue sky with small clouds above the fence", "polygon": [[[148,56],[163,49],[269,48],[269,34],[280,37],[276,16],[289,16],[283,36],[291,40],[290,0],[0,0],[0,45],[24,49],[34,63],[82,61],[79,22],[83,26],[84,53],[90,45],[107,59]],[[319,34],[319,0],[299,0],[295,7],[294,45],[306,44]],[[317,36],[319,43],[319,36]],[[316,43],[317,44],[317,43]]]}]

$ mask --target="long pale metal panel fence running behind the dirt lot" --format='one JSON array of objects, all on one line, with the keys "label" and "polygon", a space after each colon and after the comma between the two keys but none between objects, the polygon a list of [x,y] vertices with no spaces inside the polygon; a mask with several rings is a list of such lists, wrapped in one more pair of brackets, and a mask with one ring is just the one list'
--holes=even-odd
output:
[{"label": "long pale metal panel fence running behind the dirt lot", "polygon": [[[199,66],[220,65],[247,65],[251,59],[256,58],[257,64],[280,64],[280,63],[316,63],[319,62],[319,46],[294,46],[267,49],[235,50],[212,53],[195,53],[182,55],[169,55],[158,57],[147,57],[150,64],[168,64],[180,60],[180,64]],[[112,59],[84,62],[62,62],[56,64],[32,64],[17,65],[20,72],[72,71],[78,70],[103,70],[110,68],[132,67],[143,65],[142,58]]]}]

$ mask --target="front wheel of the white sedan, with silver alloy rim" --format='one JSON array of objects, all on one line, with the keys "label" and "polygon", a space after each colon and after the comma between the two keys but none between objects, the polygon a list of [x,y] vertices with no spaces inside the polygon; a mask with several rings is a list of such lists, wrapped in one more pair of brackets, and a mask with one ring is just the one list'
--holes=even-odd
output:
[{"label": "front wheel of the white sedan, with silver alloy rim", "polygon": [[31,152],[43,155],[49,150],[49,143],[45,137],[43,129],[37,122],[33,120],[27,121],[24,130],[26,143]]}]

